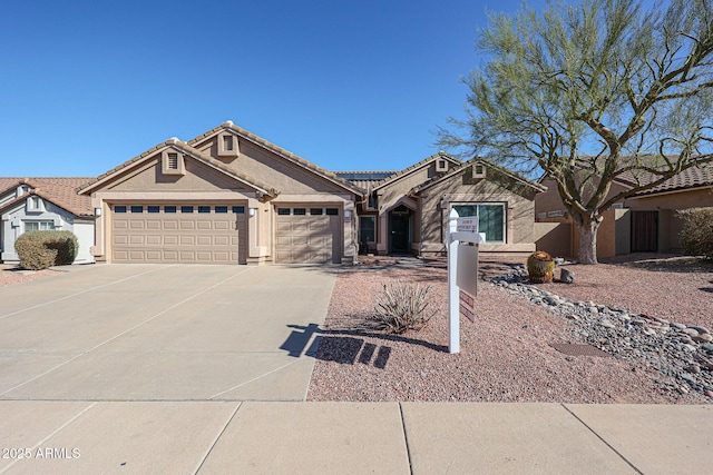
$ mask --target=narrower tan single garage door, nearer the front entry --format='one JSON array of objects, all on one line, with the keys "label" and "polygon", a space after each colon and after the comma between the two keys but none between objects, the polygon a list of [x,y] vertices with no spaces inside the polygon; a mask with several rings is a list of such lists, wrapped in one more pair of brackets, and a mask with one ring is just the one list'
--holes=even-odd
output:
[{"label": "narrower tan single garage door, nearer the front entry", "polygon": [[277,208],[275,260],[289,264],[341,261],[340,208]]}]

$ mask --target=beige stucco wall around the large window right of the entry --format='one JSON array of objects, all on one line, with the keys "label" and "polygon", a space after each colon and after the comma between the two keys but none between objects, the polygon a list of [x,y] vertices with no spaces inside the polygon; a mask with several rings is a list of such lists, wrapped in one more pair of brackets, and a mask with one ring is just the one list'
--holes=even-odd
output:
[{"label": "beige stucco wall around the large window right of the entry", "polygon": [[[502,202],[506,205],[505,243],[485,243],[485,253],[535,251],[535,192],[519,184],[492,180],[494,172],[485,179],[469,179],[470,168],[451,179],[433,185],[421,192],[422,225],[421,254],[443,254],[445,232],[451,202]],[[508,185],[506,187],[505,185]],[[519,191],[515,191],[518,190]],[[520,192],[522,195],[520,195]]]}]

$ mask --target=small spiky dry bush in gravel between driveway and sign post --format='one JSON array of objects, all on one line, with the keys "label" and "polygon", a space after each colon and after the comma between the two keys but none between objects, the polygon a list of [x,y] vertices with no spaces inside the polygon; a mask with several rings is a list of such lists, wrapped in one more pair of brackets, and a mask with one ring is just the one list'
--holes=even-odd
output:
[{"label": "small spiky dry bush in gravel between driveway and sign post", "polygon": [[420,330],[436,314],[436,310],[428,311],[430,290],[430,286],[418,284],[384,284],[383,291],[377,296],[377,321],[395,334]]}]

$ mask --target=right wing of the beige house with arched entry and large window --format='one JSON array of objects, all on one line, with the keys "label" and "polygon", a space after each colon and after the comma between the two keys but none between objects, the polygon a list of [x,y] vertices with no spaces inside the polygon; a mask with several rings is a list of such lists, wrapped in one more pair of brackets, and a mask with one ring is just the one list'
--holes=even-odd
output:
[{"label": "right wing of the beige house with arched entry and large window", "polygon": [[371,184],[370,190],[359,220],[377,254],[443,255],[452,208],[480,218],[481,251],[535,250],[534,198],[545,187],[489,160],[462,162],[439,152]]}]

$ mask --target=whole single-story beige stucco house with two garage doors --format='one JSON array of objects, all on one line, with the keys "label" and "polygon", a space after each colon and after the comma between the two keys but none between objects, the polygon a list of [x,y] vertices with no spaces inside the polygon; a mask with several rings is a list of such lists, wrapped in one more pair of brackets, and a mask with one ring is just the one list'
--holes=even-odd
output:
[{"label": "whole single-story beige stucco house with two garage doors", "polygon": [[[482,251],[535,250],[545,188],[485,159],[439,152],[398,172],[332,172],[227,121],[85,184],[97,261],[353,264],[443,254],[447,216],[480,216]],[[363,248],[362,248],[363,251]]]}]

